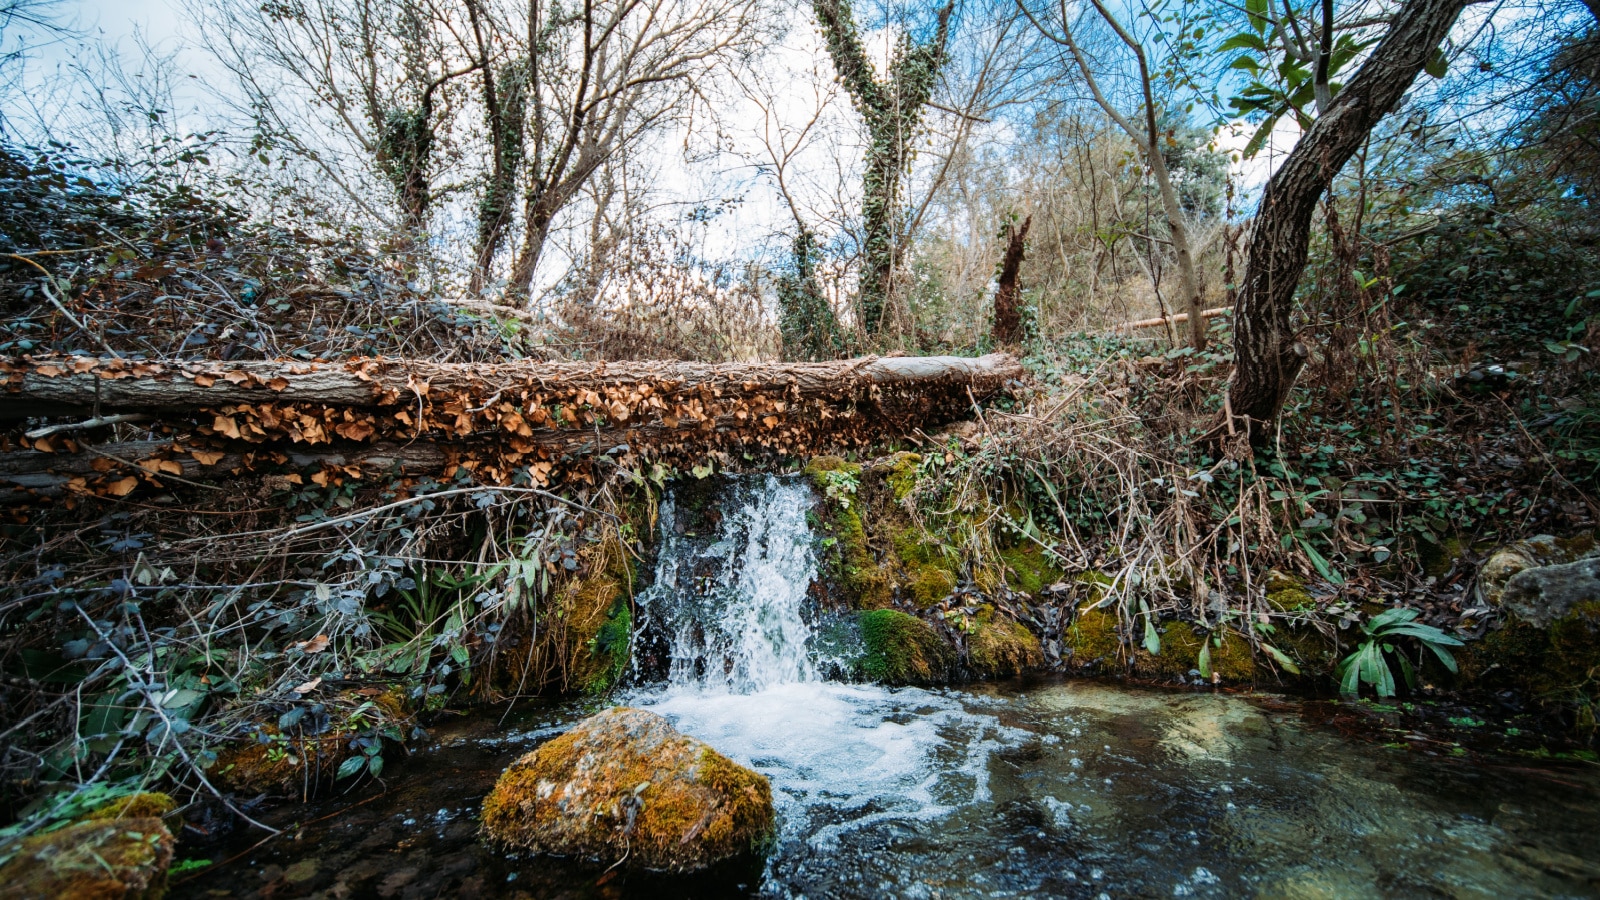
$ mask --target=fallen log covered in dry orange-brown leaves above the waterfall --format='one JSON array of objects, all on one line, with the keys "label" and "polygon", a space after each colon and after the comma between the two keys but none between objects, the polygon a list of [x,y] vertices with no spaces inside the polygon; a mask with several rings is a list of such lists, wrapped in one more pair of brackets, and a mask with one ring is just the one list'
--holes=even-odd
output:
[{"label": "fallen log covered in dry orange-brown leaves above the waterfall", "polygon": [[[242,472],[330,484],[466,469],[483,484],[544,485],[602,456],[803,456],[965,418],[1019,378],[1005,354],[774,365],[6,359],[0,503]],[[96,445],[109,428],[139,434]]]}]

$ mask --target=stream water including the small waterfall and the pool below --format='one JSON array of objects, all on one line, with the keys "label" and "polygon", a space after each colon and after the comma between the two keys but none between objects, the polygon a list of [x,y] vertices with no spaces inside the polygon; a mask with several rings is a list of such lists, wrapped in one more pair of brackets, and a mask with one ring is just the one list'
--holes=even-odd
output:
[{"label": "stream water including the small waterfall and the pool below", "polygon": [[[1318,724],[1326,703],[1034,679],[829,681],[800,482],[666,504],[622,703],[773,783],[765,862],[699,879],[507,857],[475,814],[517,756],[592,711],[435,727],[387,790],[280,809],[288,838],[179,882],[254,897],[1594,897],[1594,767],[1454,759]],[[245,852],[237,852],[245,850]]]}]

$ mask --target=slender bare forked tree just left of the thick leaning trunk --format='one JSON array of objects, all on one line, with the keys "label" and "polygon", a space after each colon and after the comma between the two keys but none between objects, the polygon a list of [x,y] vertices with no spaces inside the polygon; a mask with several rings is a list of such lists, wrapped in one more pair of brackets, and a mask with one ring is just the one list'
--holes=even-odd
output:
[{"label": "slender bare forked tree just left of the thick leaning trunk", "polygon": [[1166,159],[1162,154],[1163,131],[1158,127],[1158,122],[1163,119],[1163,110],[1158,109],[1155,102],[1155,85],[1150,72],[1150,61],[1146,54],[1144,45],[1106,8],[1101,0],[1090,0],[1090,6],[1112,30],[1117,40],[1133,54],[1139,85],[1138,110],[1144,114],[1142,122],[1136,123],[1134,117],[1139,114],[1125,112],[1102,90],[1101,78],[1096,75],[1096,67],[1090,62],[1078,37],[1074,34],[1078,26],[1074,22],[1072,11],[1067,8],[1067,0],[1058,0],[1056,21],[1051,22],[1054,27],[1046,26],[1038,14],[1026,6],[1024,0],[1018,0],[1018,8],[1027,14],[1029,21],[1034,22],[1034,27],[1037,27],[1040,34],[1067,48],[1078,75],[1082,75],[1083,83],[1090,90],[1090,96],[1094,98],[1094,104],[1099,106],[1139,149],[1139,155],[1144,159],[1144,165],[1149,168],[1150,178],[1155,181],[1155,187],[1162,195],[1162,210],[1166,216],[1166,232],[1173,243],[1173,256],[1178,263],[1179,293],[1182,295],[1182,306],[1189,312],[1189,344],[1195,349],[1205,349],[1205,319],[1200,315],[1203,303],[1200,298],[1200,277],[1195,272],[1195,251],[1189,237],[1189,226],[1184,219],[1184,210],[1178,197],[1178,189],[1173,186],[1171,171],[1168,171]]}]

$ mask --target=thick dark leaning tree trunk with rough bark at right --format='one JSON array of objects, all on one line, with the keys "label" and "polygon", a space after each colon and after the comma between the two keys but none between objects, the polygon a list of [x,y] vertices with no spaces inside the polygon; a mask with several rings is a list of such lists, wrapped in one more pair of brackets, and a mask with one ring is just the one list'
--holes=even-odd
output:
[{"label": "thick dark leaning tree trunk with rough bark at right", "polygon": [[1229,386],[1234,415],[1256,436],[1283,408],[1307,348],[1291,325],[1317,200],[1373,127],[1416,80],[1470,0],[1408,0],[1362,70],[1339,91],[1267,183],[1238,291]]}]

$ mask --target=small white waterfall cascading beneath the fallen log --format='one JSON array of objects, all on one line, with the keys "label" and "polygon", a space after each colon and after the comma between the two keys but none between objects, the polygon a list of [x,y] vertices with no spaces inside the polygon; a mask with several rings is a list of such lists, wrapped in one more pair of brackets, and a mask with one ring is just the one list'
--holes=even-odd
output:
[{"label": "small white waterfall cascading beneath the fallen log", "polygon": [[730,480],[699,514],[680,503],[669,493],[661,504],[656,578],[638,597],[643,629],[669,658],[667,682],[750,693],[818,681],[803,615],[816,578],[810,487],[765,476]]}]

